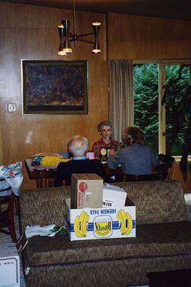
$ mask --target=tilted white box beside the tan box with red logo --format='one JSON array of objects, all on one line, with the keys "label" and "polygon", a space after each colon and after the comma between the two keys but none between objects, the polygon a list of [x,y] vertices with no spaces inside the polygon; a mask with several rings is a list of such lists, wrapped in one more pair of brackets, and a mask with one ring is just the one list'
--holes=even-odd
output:
[{"label": "tilted white box beside the tan box with red logo", "polygon": [[103,186],[103,208],[125,206],[127,192],[125,189],[114,186],[112,184],[104,184]]}]

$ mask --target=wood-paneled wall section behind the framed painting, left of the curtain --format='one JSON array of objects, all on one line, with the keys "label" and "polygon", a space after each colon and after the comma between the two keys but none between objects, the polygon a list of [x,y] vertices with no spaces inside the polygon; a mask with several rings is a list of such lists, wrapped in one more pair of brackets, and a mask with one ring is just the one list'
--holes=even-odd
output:
[{"label": "wood-paneled wall section behind the framed painting, left of the curtain", "polygon": [[[0,2],[0,93],[3,164],[30,157],[37,152],[60,152],[72,135],[88,137],[89,147],[98,140],[97,125],[108,119],[108,78],[105,52],[105,16],[76,12],[78,34],[91,33],[91,23],[100,21],[100,55],[92,45],[77,43],[72,55],[59,57],[57,25],[72,20],[72,11]],[[73,30],[71,21],[71,31]],[[91,38],[89,38],[91,39]],[[93,38],[92,38],[93,39]],[[21,59],[88,60],[87,115],[22,114]],[[8,103],[16,103],[16,113],[8,113]],[[35,187],[23,167],[23,188]]]}]

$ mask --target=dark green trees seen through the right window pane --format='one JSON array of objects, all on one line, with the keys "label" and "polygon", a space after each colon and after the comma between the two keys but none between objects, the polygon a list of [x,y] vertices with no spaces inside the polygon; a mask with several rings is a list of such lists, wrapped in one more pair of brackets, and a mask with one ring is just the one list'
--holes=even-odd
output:
[{"label": "dark green trees seen through the right window pane", "polygon": [[166,151],[178,156],[185,152],[187,137],[191,137],[191,65],[170,64],[165,68],[162,103],[166,103]]}]

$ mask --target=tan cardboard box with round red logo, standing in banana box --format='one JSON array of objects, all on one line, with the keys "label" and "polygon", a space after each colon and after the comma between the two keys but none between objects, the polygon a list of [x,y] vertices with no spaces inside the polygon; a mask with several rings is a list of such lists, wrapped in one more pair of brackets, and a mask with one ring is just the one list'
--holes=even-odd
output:
[{"label": "tan cardboard box with round red logo, standing in banana box", "polygon": [[97,174],[71,174],[71,208],[102,208],[103,179]]}]

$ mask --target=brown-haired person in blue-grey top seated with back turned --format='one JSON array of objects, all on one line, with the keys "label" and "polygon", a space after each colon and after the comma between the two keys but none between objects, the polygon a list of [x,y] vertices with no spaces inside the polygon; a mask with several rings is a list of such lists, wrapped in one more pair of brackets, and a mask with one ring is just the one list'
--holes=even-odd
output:
[{"label": "brown-haired person in blue-grey top seated with back turned", "polygon": [[125,128],[122,138],[126,147],[108,157],[108,167],[117,169],[121,165],[123,174],[151,174],[153,167],[158,166],[158,159],[144,145],[144,132],[136,126]]}]

